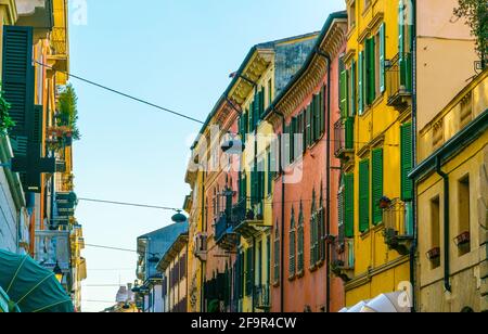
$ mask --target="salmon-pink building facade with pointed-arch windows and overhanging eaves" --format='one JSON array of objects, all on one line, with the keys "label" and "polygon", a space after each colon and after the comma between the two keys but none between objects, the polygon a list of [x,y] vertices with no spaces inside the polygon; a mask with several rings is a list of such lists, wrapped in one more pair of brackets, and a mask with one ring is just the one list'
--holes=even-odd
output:
[{"label": "salmon-pink building facade with pointed-arch windows and overhanging eaves", "polygon": [[343,283],[331,271],[336,248],[330,236],[339,234],[341,164],[332,149],[339,139],[334,125],[341,120],[338,72],[346,31],[346,13],[331,14],[304,67],[268,111],[282,139],[281,172],[272,184],[274,312],[329,312],[344,305]]}]

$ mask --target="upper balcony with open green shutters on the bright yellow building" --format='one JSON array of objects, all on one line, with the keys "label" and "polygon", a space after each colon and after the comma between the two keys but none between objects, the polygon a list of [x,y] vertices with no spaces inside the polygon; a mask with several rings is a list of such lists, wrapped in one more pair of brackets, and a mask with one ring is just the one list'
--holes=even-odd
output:
[{"label": "upper balcony with open green shutters on the bright yellow building", "polygon": [[387,104],[400,112],[407,110],[412,98],[412,55],[398,53],[387,62],[385,76]]}]

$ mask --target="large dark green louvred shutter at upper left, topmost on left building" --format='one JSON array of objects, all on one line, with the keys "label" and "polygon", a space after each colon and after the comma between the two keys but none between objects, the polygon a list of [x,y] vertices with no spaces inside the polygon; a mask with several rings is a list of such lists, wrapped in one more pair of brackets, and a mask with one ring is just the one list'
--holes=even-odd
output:
[{"label": "large dark green louvred shutter at upper left, topmost on left building", "polygon": [[[3,98],[11,104],[12,139],[30,139],[34,126],[33,28],[3,26]],[[22,151],[22,150],[21,150]],[[24,152],[22,152],[24,153]],[[27,152],[25,151],[26,155]]]}]

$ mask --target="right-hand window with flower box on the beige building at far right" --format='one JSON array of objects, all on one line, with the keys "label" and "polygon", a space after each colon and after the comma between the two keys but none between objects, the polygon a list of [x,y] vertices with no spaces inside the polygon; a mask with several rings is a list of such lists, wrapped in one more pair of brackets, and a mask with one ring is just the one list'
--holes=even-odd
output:
[{"label": "right-hand window with flower box on the beige building at far right", "polygon": [[466,176],[458,182],[458,203],[459,203],[459,236],[458,247],[459,256],[471,252],[471,192],[470,176]]}]

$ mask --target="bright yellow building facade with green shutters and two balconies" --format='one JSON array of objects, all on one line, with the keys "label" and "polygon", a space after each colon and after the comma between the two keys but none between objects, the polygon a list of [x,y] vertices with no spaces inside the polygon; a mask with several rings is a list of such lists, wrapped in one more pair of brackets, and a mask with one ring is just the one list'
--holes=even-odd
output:
[{"label": "bright yellow building facade with green shutters and two balconies", "polygon": [[413,9],[407,2],[346,1],[341,99],[352,144],[341,157],[344,219],[354,224],[346,235],[346,307],[403,291],[410,282]]}]

